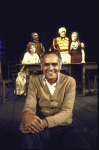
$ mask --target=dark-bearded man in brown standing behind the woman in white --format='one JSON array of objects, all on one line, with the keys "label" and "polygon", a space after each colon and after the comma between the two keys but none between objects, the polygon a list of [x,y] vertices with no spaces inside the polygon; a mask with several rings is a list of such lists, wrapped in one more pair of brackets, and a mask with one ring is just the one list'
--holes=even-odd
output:
[{"label": "dark-bearded man in brown standing behind the woman in white", "polygon": [[39,42],[38,33],[33,32],[33,33],[32,33],[32,39],[33,39],[32,43],[35,44],[36,53],[37,53],[39,56],[41,56],[42,54],[44,54],[45,48],[44,48],[43,44]]}]

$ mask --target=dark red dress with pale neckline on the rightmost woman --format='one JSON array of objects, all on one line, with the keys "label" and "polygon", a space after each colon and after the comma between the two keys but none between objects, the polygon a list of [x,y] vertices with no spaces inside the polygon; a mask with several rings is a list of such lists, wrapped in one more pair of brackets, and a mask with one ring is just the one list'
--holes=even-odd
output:
[{"label": "dark red dress with pale neckline on the rightmost woman", "polygon": [[81,63],[82,55],[80,42],[76,41],[71,43],[70,53],[71,53],[71,63]]}]

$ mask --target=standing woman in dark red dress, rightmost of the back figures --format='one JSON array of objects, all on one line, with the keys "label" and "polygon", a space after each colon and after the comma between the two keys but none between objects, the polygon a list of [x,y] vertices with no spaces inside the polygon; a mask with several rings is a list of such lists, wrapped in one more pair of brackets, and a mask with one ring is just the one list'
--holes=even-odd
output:
[{"label": "standing woman in dark red dress, rightmost of the back figures", "polygon": [[85,63],[84,43],[79,42],[77,32],[72,32],[71,40],[71,63]]}]

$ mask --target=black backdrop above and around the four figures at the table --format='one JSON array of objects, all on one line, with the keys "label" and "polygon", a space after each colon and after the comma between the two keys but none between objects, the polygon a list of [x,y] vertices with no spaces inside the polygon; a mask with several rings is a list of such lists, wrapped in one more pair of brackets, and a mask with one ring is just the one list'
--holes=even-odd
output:
[{"label": "black backdrop above and around the four figures at the table", "polygon": [[97,62],[96,2],[87,1],[20,1],[0,2],[0,34],[5,36],[6,60],[23,58],[31,33],[37,32],[46,51],[66,27],[67,37],[79,33],[85,43],[86,62]]}]

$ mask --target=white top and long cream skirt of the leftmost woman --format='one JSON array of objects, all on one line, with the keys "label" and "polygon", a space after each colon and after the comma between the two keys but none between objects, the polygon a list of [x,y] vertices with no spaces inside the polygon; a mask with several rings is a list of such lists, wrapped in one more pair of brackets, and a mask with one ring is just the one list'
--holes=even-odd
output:
[{"label": "white top and long cream skirt of the leftmost woman", "polygon": [[[39,63],[39,56],[34,53],[33,56],[30,55],[29,52],[24,54],[24,58],[22,60],[22,64],[30,61],[30,63]],[[22,67],[18,76],[16,78],[16,94],[17,95],[26,95],[26,73],[25,73],[25,65]]]}]

